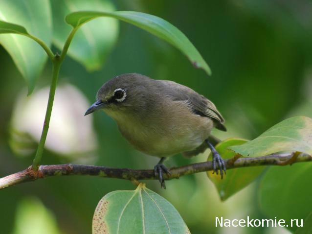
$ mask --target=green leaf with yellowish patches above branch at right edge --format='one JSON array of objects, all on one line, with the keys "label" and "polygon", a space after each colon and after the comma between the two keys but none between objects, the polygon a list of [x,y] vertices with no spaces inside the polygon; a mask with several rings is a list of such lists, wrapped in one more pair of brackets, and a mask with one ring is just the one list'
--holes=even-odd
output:
[{"label": "green leaf with yellowish patches above branch at right edge", "polygon": [[258,138],[229,149],[246,157],[265,156],[281,151],[312,154],[312,119],[305,116],[287,118]]}]

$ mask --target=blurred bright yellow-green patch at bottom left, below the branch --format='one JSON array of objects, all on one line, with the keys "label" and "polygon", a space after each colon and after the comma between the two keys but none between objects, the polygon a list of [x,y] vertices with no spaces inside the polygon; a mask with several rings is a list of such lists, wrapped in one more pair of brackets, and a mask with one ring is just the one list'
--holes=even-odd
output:
[{"label": "blurred bright yellow-green patch at bottom left, below the branch", "polygon": [[24,198],[17,207],[13,234],[61,234],[53,213],[35,198]]}]

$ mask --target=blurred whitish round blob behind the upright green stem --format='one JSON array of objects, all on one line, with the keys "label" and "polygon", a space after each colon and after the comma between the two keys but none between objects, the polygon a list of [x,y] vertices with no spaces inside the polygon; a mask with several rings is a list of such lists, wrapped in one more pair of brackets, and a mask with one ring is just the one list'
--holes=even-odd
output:
[{"label": "blurred whitish round blob behind the upright green stem", "polygon": [[[48,95],[49,88],[44,88],[28,97],[26,91],[22,92],[17,98],[10,143],[19,155],[29,155],[36,149],[29,139],[36,142],[40,140]],[[77,88],[69,84],[59,86],[55,93],[45,148],[74,159],[94,153],[97,141],[92,116],[84,117],[88,108],[86,97]]]}]

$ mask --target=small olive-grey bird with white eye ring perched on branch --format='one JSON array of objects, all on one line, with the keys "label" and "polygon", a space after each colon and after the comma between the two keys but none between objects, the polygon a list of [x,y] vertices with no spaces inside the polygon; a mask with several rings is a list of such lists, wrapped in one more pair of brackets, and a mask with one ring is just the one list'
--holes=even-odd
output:
[{"label": "small olive-grey bird with white eye ring perched on branch", "polygon": [[97,92],[96,102],[85,115],[103,110],[112,117],[121,134],[139,151],[161,158],[154,167],[165,187],[166,157],[182,153],[191,157],[207,147],[213,154],[214,171],[221,177],[225,164],[208,140],[213,127],[226,131],[216,106],[194,90],[169,80],[154,80],[128,73],[114,77]]}]

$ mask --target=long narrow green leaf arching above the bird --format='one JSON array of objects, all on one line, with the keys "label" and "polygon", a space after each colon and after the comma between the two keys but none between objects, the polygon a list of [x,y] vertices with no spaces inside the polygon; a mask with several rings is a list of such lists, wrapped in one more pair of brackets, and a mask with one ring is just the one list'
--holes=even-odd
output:
[{"label": "long narrow green leaf arching above the bird", "polygon": [[209,66],[188,38],[178,30],[177,27],[159,17],[134,11],[81,11],[67,15],[66,22],[73,27],[79,27],[90,20],[103,16],[113,17],[134,24],[135,26],[156,35],[181,50],[196,68],[202,68],[207,74],[211,74]]}]

